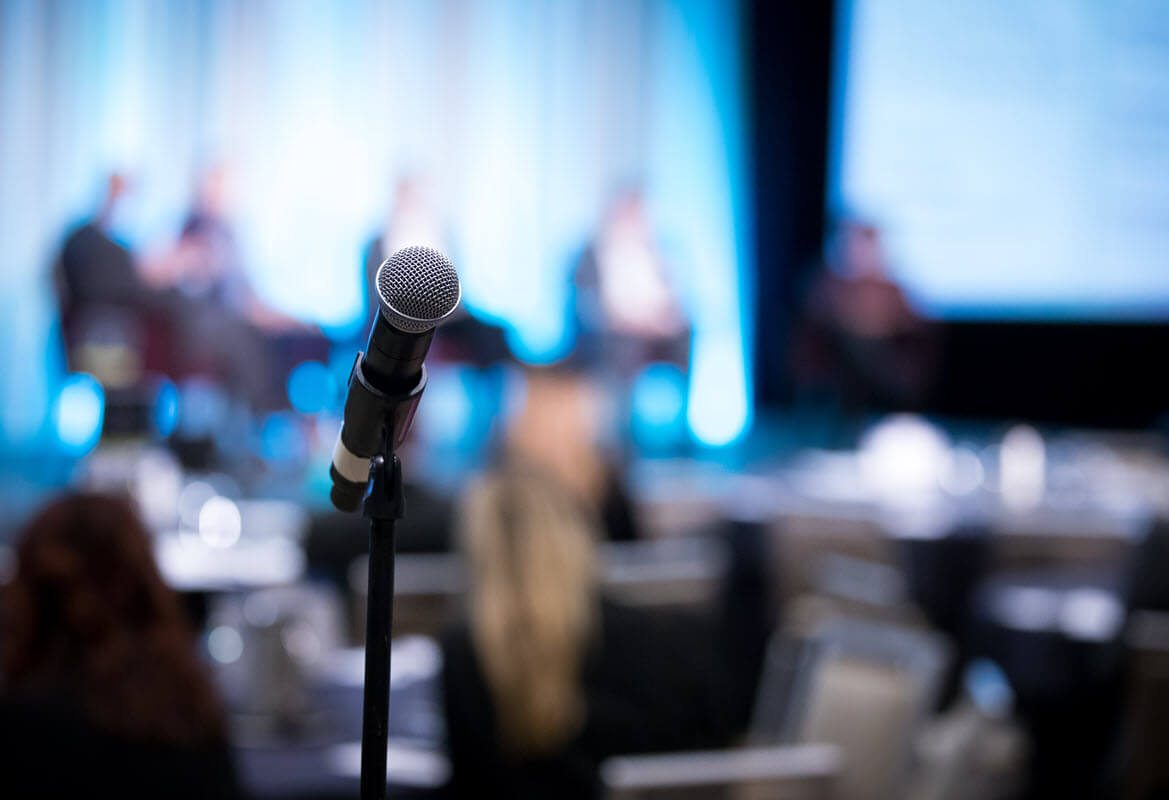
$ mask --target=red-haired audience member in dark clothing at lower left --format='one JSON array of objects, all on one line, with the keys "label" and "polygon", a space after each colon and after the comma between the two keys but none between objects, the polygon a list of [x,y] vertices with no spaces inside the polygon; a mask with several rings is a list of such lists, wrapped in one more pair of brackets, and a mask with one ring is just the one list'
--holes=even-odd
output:
[{"label": "red-haired audience member in dark clothing at lower left", "polygon": [[126,501],[51,503],[0,601],[5,796],[233,798],[223,713]]}]

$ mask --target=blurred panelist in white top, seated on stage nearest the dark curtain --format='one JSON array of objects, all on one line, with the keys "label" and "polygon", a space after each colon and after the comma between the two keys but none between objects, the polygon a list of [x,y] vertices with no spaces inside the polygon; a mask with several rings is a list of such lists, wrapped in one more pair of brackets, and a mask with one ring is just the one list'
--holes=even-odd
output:
[{"label": "blurred panelist in white top, seated on stage nearest the dark curtain", "polygon": [[573,270],[579,346],[629,379],[652,361],[690,364],[690,319],[638,188],[622,191]]}]

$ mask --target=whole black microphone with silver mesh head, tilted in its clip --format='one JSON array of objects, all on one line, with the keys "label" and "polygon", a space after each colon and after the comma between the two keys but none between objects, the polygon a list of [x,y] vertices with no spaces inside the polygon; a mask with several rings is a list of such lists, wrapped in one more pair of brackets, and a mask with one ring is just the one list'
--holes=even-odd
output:
[{"label": "whole black microphone with silver mesh head, tilted in its clip", "polygon": [[462,296],[454,264],[429,247],[406,247],[382,262],[374,290],[378,318],[350,373],[328,468],[328,498],[339,511],[357,511],[369,483],[371,458],[385,442],[397,447],[409,433],[427,386],[423,360],[435,327],[454,313]]}]

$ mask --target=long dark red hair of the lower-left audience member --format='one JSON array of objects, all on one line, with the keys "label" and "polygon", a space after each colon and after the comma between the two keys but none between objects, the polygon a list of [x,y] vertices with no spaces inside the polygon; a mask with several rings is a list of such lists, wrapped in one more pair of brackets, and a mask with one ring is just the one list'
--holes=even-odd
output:
[{"label": "long dark red hair of the lower-left audience member", "polygon": [[223,735],[182,607],[126,499],[69,495],[26,527],[0,600],[0,668],[7,691],[79,696],[117,735]]}]

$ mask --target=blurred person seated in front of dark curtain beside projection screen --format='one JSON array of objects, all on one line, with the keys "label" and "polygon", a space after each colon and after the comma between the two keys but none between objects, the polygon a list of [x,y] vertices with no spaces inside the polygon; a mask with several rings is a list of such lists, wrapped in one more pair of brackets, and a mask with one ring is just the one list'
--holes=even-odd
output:
[{"label": "blurred person seated in front of dark curtain beside projection screen", "polygon": [[936,363],[931,325],[888,271],[880,230],[845,220],[803,297],[793,340],[797,391],[846,412],[914,409]]}]

